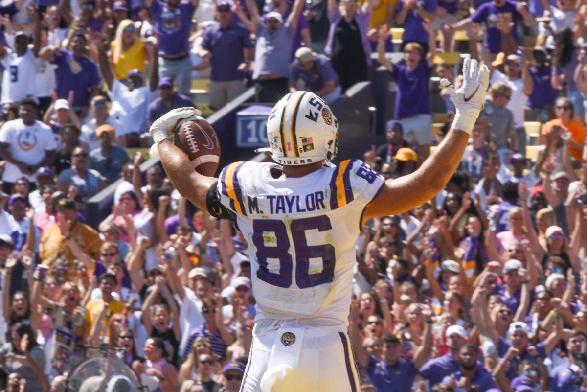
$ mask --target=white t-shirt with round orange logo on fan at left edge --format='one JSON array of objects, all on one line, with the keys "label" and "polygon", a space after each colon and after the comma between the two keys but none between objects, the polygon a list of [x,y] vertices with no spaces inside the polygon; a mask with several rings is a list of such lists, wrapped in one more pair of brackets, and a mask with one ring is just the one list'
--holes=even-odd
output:
[{"label": "white t-shirt with round orange logo on fan at left edge", "polygon": [[[12,157],[29,165],[41,163],[45,159],[45,151],[57,149],[53,131],[41,121],[35,121],[31,126],[26,126],[21,119],[8,121],[0,128],[0,143],[9,144]],[[22,176],[18,166],[6,162],[2,173],[3,181],[14,183]],[[36,175],[25,177],[29,181],[35,181]]]}]

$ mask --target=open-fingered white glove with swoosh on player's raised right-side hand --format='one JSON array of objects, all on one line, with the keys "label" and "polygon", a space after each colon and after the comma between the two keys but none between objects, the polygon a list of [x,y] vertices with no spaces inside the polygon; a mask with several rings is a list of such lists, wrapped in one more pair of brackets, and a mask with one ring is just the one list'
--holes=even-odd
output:
[{"label": "open-fingered white glove with swoosh on player's raised right-side hand", "polygon": [[441,79],[440,85],[446,87],[457,109],[453,128],[471,134],[473,126],[485,102],[485,94],[489,86],[489,69],[482,65],[479,69],[477,60],[465,58],[463,63],[463,86],[455,89],[453,83]]}]

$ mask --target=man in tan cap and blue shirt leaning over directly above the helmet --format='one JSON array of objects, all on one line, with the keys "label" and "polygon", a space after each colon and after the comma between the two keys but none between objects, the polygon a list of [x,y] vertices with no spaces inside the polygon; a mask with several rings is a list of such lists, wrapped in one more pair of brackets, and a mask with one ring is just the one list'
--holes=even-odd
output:
[{"label": "man in tan cap and blue shirt leaning over directly above the helmet", "polygon": [[310,48],[299,48],[295,52],[289,77],[289,92],[297,90],[298,79],[303,80],[307,91],[321,97],[328,104],[335,102],[342,92],[338,75],[330,61],[316,55]]}]

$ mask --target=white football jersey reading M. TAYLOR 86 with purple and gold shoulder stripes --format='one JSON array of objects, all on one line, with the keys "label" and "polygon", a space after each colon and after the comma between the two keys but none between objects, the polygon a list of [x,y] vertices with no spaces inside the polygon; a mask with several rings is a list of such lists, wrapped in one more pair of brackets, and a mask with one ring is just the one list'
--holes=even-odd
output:
[{"label": "white football jersey reading M. TAYLOR 86 with purple and gold shoulder stripes", "polygon": [[257,333],[298,323],[345,330],[360,221],[383,177],[355,159],[304,177],[272,173],[281,167],[233,163],[217,188],[248,242]]}]

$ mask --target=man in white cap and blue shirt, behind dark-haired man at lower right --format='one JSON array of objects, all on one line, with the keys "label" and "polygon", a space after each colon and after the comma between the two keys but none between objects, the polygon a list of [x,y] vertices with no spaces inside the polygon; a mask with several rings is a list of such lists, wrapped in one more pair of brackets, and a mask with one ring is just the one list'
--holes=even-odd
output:
[{"label": "man in white cap and blue shirt, behind dark-haired man at lower right", "polygon": [[420,376],[430,381],[430,385],[440,383],[444,377],[456,373],[461,367],[460,351],[465,344],[467,332],[460,325],[451,325],[446,330],[448,353],[427,361],[420,367]]}]

